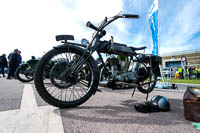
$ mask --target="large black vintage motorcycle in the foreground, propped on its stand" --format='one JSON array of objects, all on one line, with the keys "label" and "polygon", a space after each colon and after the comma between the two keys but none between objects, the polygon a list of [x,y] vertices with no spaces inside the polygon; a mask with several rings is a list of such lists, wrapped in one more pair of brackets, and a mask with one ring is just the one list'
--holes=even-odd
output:
[{"label": "large black vintage motorcycle in the foreground, propped on its stand", "polygon": [[[100,22],[96,27],[90,21],[86,26],[95,30],[89,43],[69,42],[73,35],[58,35],[56,41],[63,44],[54,47],[38,62],[34,73],[34,84],[39,95],[49,104],[61,108],[76,107],[87,101],[99,84],[112,89],[137,88],[142,93],[150,93],[160,76],[161,57],[152,54],[137,53],[146,47],[130,47],[116,43],[111,38],[102,41],[106,35],[104,28],[119,18],[139,18],[139,15],[117,14]],[[97,52],[101,65],[97,65],[92,54]],[[104,62],[102,53],[126,56],[126,65],[116,57]],[[45,78],[49,62],[56,62]]]}]

